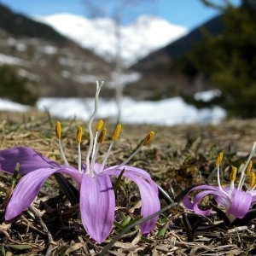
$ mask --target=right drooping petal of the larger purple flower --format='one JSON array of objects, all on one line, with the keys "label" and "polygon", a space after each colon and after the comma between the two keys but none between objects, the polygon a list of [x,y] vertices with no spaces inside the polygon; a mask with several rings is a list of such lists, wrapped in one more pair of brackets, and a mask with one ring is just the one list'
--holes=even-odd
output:
[{"label": "right drooping petal of the larger purple flower", "polygon": [[[148,217],[154,212],[160,211],[158,189],[149,174],[144,170],[136,167],[122,166],[121,168],[125,168],[125,172],[123,174],[124,177],[128,177],[134,183],[137,183],[142,198],[141,214],[143,218]],[[114,176],[119,176],[120,171],[121,170],[112,168],[104,170],[105,173]],[[144,178],[146,178],[146,180]],[[157,219],[158,217],[151,218],[140,225],[140,229],[142,230],[143,235],[148,235],[148,233],[150,233],[150,231],[154,228]]]}]

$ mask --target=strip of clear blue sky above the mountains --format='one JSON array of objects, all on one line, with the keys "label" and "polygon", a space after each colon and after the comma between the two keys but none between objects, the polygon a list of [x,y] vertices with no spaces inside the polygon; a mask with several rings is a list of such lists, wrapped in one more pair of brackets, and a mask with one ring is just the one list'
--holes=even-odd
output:
[{"label": "strip of clear blue sky above the mountains", "polygon": [[[0,0],[0,3],[6,4],[16,12],[30,16],[62,12],[86,16],[84,2],[84,0]],[[224,3],[224,0],[212,0],[212,2]],[[230,0],[230,2],[239,4],[241,0]],[[185,26],[189,30],[218,15],[216,10],[205,7],[200,0],[154,0],[149,8],[140,8],[141,13],[146,10],[152,15],[158,15],[172,24]]]}]

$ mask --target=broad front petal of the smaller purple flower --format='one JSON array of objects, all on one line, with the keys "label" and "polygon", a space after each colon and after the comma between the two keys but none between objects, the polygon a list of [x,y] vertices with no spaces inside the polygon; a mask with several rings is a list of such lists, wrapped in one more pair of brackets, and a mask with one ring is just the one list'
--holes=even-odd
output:
[{"label": "broad front petal of the smaller purple flower", "polygon": [[251,207],[253,196],[245,191],[234,189],[231,195],[231,205],[228,213],[243,218]]}]

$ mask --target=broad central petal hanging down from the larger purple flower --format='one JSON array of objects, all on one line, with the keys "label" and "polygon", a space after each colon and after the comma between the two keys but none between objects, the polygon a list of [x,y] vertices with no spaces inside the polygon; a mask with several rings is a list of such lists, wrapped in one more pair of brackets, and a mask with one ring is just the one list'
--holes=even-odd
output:
[{"label": "broad central petal hanging down from the larger purple flower", "polygon": [[110,234],[114,219],[115,198],[110,177],[82,174],[80,212],[87,233],[98,243]]}]

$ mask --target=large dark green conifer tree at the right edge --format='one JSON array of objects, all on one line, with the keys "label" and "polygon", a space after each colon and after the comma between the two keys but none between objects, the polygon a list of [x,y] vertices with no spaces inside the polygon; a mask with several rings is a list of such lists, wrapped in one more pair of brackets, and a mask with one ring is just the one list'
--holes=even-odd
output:
[{"label": "large dark green conifer tree at the right edge", "polygon": [[221,91],[214,101],[230,116],[256,117],[256,1],[243,0],[239,7],[225,2],[217,6],[223,12],[224,32],[205,32],[203,42],[186,59]]}]

